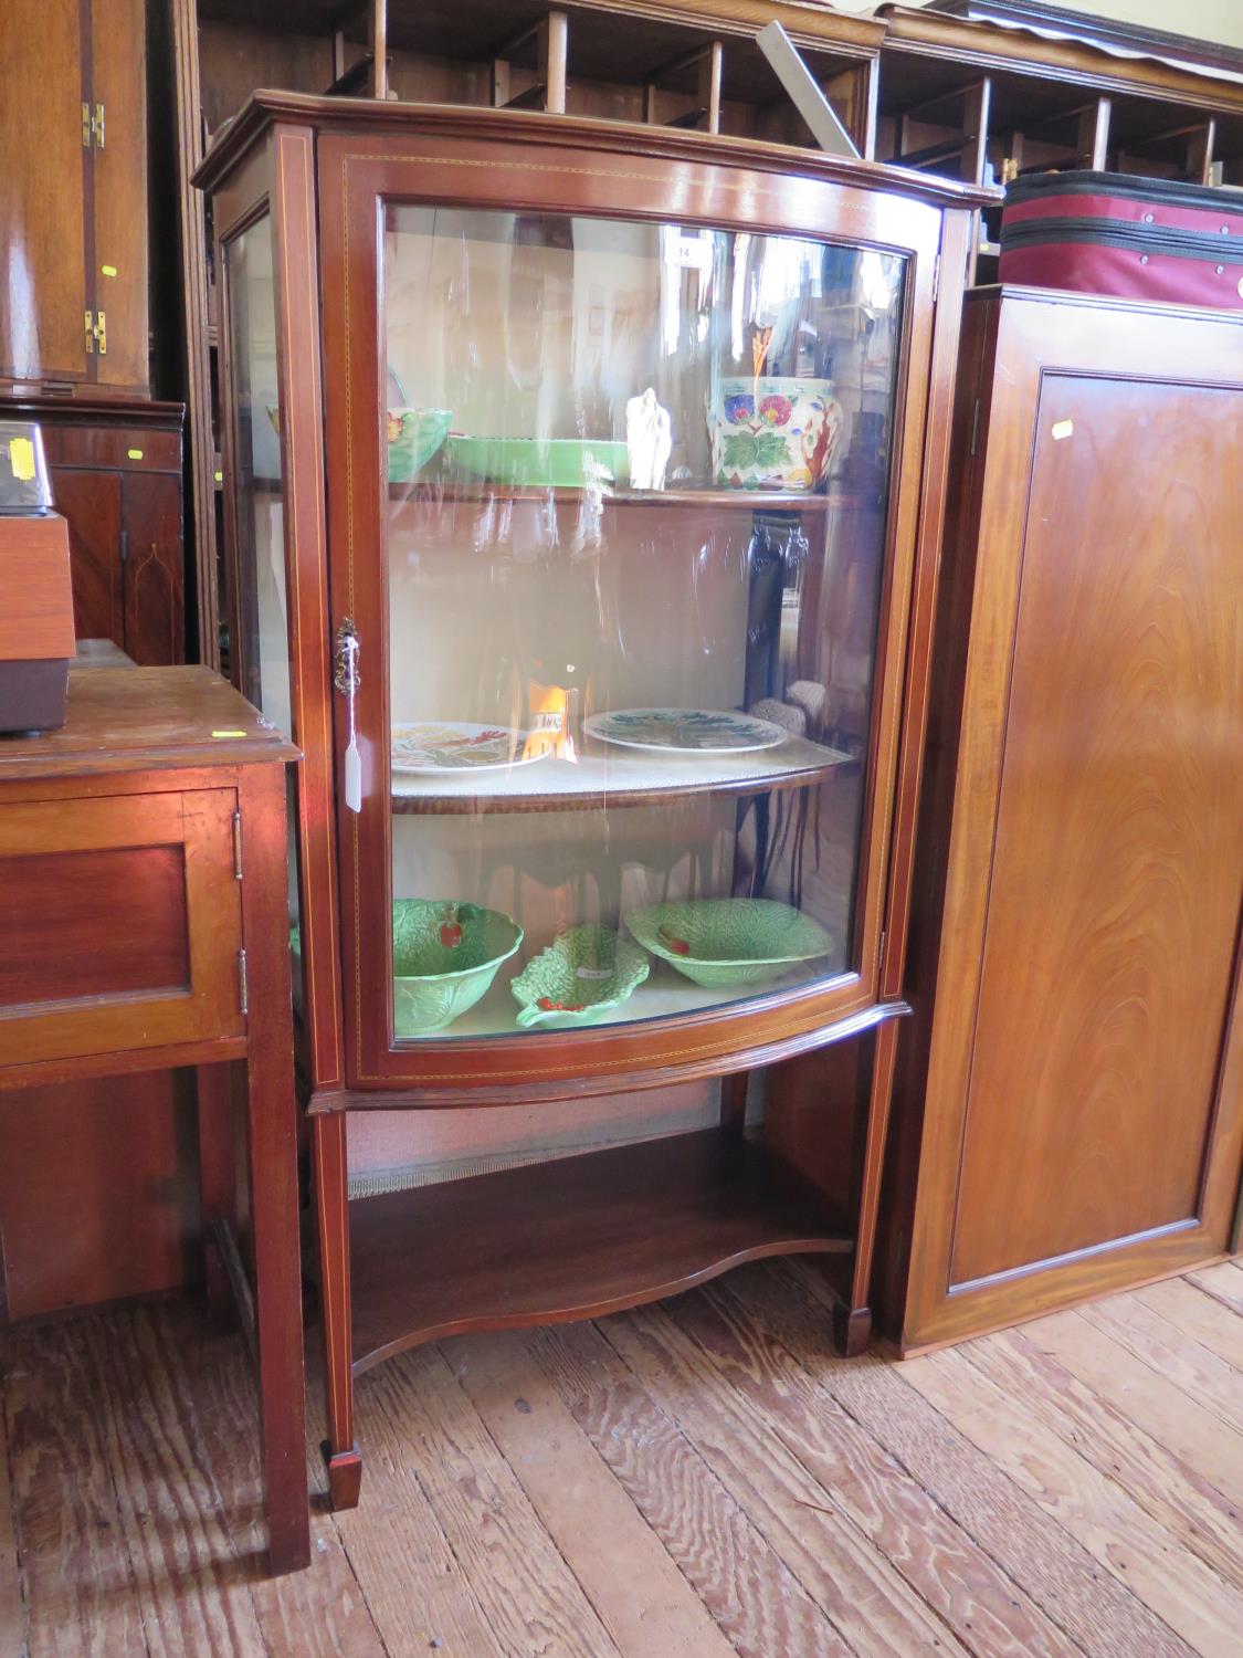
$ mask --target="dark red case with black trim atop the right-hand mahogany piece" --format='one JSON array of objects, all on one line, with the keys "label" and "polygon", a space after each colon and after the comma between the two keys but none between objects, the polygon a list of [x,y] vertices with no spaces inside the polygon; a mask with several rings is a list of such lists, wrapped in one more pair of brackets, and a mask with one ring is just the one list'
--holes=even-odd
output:
[{"label": "dark red case with black trim atop the right-hand mahogany piece", "polygon": [[1034,172],[1006,191],[998,275],[1243,310],[1243,194],[1127,172]]}]

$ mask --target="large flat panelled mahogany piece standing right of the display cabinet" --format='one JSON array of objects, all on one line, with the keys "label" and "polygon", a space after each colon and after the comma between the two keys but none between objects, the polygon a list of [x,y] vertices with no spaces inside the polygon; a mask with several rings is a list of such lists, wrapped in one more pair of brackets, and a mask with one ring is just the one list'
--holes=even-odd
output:
[{"label": "large flat panelled mahogany piece standing right of the display cabinet", "polygon": [[883,1252],[907,1350],[1238,1247],[1241,453],[1243,317],[970,295]]}]

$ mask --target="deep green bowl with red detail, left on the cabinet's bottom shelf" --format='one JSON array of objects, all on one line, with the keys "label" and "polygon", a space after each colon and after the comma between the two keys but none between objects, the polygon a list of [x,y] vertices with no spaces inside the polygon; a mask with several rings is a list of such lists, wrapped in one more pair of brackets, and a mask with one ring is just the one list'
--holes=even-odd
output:
[{"label": "deep green bowl with red detail, left on the cabinet's bottom shelf", "polygon": [[452,1025],[487,991],[522,928],[501,910],[456,899],[393,904],[393,1028],[428,1036]]}]

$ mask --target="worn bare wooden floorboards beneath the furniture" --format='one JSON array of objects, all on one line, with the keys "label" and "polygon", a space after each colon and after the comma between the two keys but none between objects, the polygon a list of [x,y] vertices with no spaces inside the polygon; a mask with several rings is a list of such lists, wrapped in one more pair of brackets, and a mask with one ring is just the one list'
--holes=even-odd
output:
[{"label": "worn bare wooden floorboards beneath the furniture", "polygon": [[[312,1361],[308,1474],[322,1383]],[[1226,1658],[1243,1268],[907,1365],[812,1268],[363,1378],[363,1502],[270,1580],[240,1338],[0,1331],[0,1658]]]}]

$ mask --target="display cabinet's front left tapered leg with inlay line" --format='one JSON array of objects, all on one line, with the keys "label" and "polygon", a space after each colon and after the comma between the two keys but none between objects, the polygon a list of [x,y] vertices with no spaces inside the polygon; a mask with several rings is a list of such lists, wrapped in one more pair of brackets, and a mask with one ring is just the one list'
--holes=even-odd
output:
[{"label": "display cabinet's front left tapered leg with inlay line", "polygon": [[323,1360],[328,1373],[328,1492],[333,1509],[358,1507],[363,1459],[355,1444],[350,1340],[350,1187],[345,1113],[312,1117],[315,1214],[320,1229]]}]

